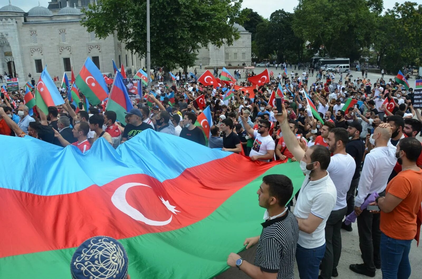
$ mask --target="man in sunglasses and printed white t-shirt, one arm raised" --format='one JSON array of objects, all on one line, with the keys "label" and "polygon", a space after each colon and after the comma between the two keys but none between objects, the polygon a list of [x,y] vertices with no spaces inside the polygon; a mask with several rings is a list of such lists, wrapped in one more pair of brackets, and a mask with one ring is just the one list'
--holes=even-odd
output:
[{"label": "man in sunglasses and printed white t-shirt, one arm raised", "polygon": [[274,158],[274,149],[276,149],[273,138],[268,134],[271,129],[270,121],[262,119],[258,123],[258,130],[256,131],[248,124],[246,117],[246,114],[241,114],[243,127],[255,138],[252,150],[249,153],[251,160],[270,161],[270,159]]}]

